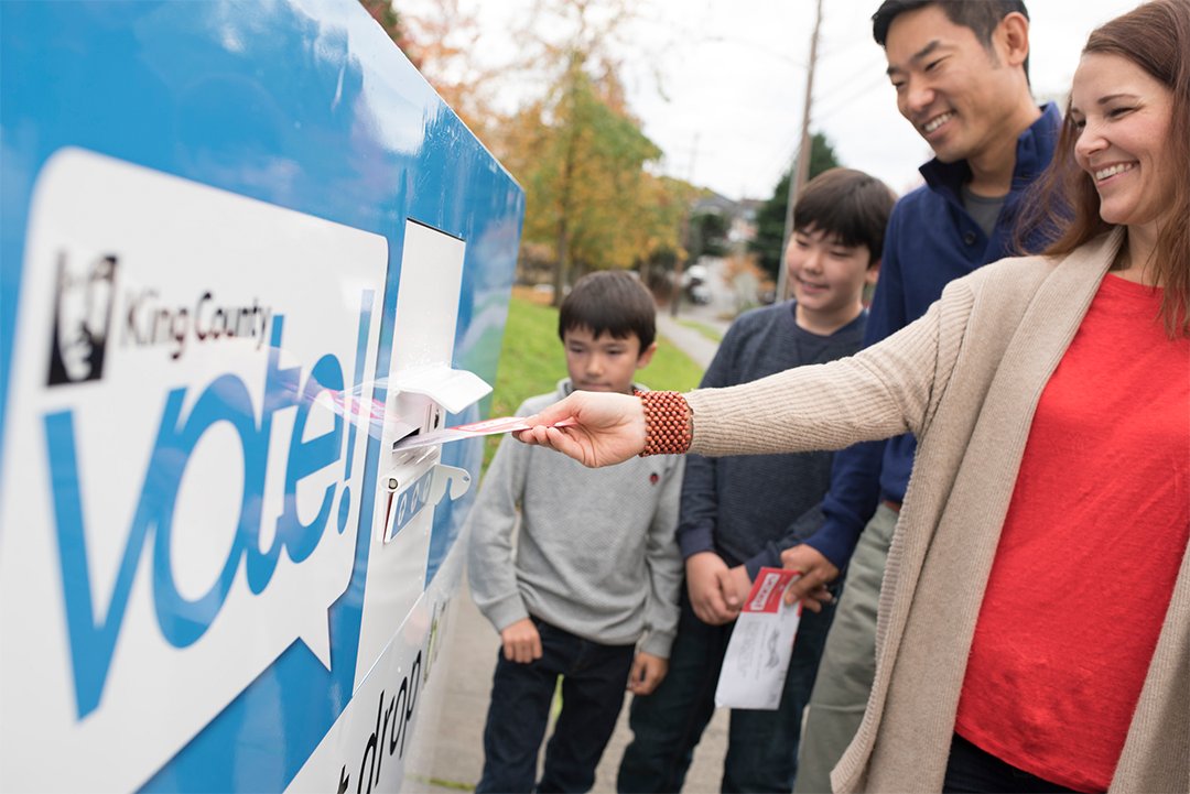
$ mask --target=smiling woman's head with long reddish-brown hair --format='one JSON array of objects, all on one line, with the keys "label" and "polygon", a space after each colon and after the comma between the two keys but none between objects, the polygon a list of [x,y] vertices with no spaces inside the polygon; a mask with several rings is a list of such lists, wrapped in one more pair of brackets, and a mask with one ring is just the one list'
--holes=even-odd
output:
[{"label": "smiling woman's head with long reddish-brown hair", "polygon": [[[1186,6],[1146,4],[1091,33],[1075,75],[1061,156],[1031,213],[1031,226],[1064,231],[1050,250],[1058,254],[1127,226],[1128,245],[1115,269],[1164,288],[1161,316],[1171,335],[1190,333]],[[1061,218],[1064,207],[1073,208],[1072,222]]]}]

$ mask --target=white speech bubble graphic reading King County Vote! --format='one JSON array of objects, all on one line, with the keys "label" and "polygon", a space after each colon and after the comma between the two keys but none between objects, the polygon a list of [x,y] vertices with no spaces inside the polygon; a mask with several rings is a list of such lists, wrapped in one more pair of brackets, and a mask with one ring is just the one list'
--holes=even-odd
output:
[{"label": "white speech bubble graphic reading King County Vote!", "polygon": [[81,150],[45,165],[0,483],[0,787],[133,788],[295,641],[330,668],[387,264],[359,229]]}]

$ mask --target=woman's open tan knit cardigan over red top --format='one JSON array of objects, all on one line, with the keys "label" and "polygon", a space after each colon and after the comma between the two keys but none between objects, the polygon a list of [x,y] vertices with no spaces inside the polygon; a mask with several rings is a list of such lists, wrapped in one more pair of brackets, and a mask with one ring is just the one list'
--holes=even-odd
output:
[{"label": "woman's open tan knit cardigan over red top", "polygon": [[[1061,259],[988,265],[850,359],[687,395],[691,452],[702,454],[838,449],[907,430],[919,439],[881,592],[876,680],[832,775],[837,792],[941,789],[1033,411],[1121,240],[1116,231]],[[1127,593],[1127,582],[1104,586]],[[1190,792],[1190,554],[1110,790]]]}]

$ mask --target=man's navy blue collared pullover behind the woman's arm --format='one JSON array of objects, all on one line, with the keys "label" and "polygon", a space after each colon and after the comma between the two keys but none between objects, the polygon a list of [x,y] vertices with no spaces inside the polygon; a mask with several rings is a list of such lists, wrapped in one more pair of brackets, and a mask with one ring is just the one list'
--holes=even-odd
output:
[{"label": "man's navy blue collared pullover behind the woman's arm", "polygon": [[[1022,194],[1050,164],[1060,126],[1061,114],[1051,102],[1017,138],[1012,188],[990,237],[963,208],[962,187],[971,178],[966,160],[935,158],[921,166],[926,184],[902,197],[889,219],[865,347],[922,316],[951,281],[1020,252],[1014,232]],[[1035,251],[1044,244],[1026,239],[1023,247]],[[904,498],[915,450],[916,441],[906,434],[837,453],[825,519],[806,542],[843,568],[877,504]]]}]

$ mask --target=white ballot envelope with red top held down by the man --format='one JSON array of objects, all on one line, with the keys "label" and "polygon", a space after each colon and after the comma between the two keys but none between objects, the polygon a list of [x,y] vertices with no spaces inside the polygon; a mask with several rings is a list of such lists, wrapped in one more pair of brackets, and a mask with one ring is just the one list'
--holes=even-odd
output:
[{"label": "white ballot envelope with red top held down by the man", "polygon": [[716,706],[772,711],[781,705],[802,619],[801,601],[790,606],[782,596],[798,576],[797,571],[760,568],[727,644],[715,689]]}]

